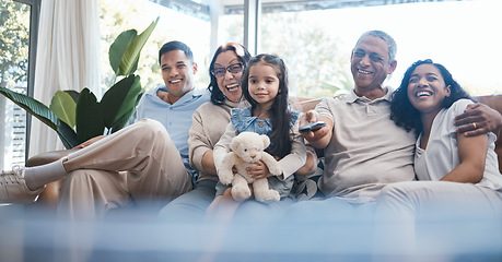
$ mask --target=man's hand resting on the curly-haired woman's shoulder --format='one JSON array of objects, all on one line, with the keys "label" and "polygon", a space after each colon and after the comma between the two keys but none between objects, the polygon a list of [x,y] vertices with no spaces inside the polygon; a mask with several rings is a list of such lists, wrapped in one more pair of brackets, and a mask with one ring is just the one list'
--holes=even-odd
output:
[{"label": "man's hand resting on the curly-haired woman's shoulder", "polygon": [[494,109],[483,104],[468,105],[464,114],[455,117],[454,124],[457,132],[466,136],[475,136],[494,132],[499,134],[502,129],[502,116]]}]

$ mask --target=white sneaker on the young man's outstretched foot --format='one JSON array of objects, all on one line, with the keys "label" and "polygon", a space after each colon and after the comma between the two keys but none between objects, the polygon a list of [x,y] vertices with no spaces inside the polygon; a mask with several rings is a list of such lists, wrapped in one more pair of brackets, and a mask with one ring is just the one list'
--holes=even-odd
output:
[{"label": "white sneaker on the young man's outstretched foot", "polygon": [[30,190],[24,181],[24,167],[13,166],[12,170],[0,175],[0,203],[30,204],[44,190]]}]

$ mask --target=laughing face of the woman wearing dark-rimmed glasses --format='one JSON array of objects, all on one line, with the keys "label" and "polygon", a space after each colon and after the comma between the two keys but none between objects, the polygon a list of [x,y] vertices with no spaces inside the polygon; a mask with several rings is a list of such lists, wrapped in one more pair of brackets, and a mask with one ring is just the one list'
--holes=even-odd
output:
[{"label": "laughing face of the woman wearing dark-rimmed glasses", "polygon": [[[232,73],[233,68],[241,68],[238,73]],[[226,96],[231,102],[240,102],[243,95],[241,88],[241,78],[243,76],[243,64],[238,59],[237,55],[233,50],[227,50],[218,55],[214,61],[214,69],[223,70],[223,76],[217,76],[218,88]],[[238,71],[238,70],[235,70]]]}]

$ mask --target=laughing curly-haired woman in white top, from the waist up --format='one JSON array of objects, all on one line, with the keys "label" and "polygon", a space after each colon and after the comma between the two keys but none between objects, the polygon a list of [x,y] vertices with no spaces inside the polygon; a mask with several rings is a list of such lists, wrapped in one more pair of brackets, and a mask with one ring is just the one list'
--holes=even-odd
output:
[{"label": "laughing curly-haired woman in white top, from the waist up", "polygon": [[442,64],[421,60],[406,71],[394,93],[390,118],[418,135],[415,170],[419,180],[502,187],[495,135],[466,138],[455,132],[453,119],[469,104],[472,98]]}]

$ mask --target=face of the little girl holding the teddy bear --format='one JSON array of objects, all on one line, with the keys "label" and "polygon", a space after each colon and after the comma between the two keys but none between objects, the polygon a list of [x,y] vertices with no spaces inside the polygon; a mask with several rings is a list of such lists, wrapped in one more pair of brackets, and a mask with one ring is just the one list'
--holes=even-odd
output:
[{"label": "face of the little girl holding the teddy bear", "polygon": [[269,109],[279,93],[279,69],[259,61],[249,68],[248,91],[262,109]]}]

